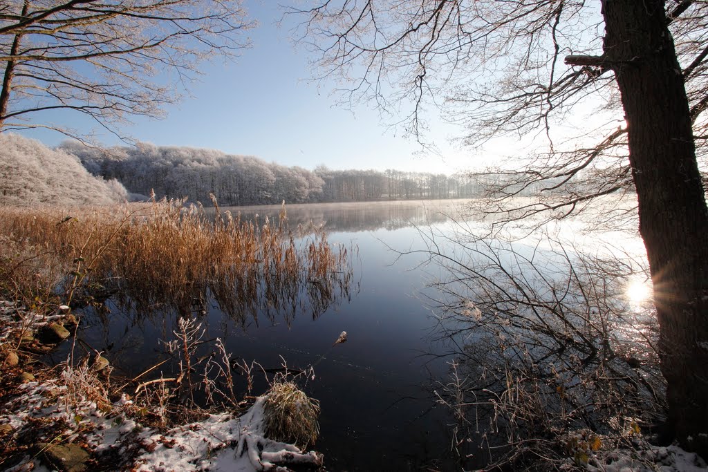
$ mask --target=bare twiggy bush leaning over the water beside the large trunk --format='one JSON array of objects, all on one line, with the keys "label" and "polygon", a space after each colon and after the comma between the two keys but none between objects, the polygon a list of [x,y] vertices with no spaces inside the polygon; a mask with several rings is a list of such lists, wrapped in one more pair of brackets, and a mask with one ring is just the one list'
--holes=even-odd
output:
[{"label": "bare twiggy bush leaning over the water beside the large trunk", "polygon": [[[457,346],[458,381],[441,396],[457,413],[459,437],[489,445],[494,465],[535,470],[542,453],[545,466],[560,466],[568,454],[590,454],[588,432],[624,437],[661,421],[656,318],[625,293],[644,272],[637,255],[543,233],[485,238],[463,226],[421,238],[441,272],[433,284],[440,336]],[[457,446],[469,452],[464,440]]]}]

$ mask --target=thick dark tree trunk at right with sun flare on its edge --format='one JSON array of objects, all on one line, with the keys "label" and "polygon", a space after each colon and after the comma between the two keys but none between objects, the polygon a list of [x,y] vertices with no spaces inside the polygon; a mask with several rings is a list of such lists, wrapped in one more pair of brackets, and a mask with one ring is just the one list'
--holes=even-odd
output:
[{"label": "thick dark tree trunk at right with sun flare on its edge", "polygon": [[604,0],[667,381],[668,427],[708,458],[708,209],[663,0]]}]

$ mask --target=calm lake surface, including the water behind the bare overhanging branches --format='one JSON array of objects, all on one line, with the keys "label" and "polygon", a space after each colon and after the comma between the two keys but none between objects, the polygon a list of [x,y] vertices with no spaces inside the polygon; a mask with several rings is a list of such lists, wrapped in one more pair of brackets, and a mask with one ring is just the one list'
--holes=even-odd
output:
[{"label": "calm lake surface, including the water behind the bare overhanging branches", "polygon": [[[550,408],[565,408],[567,424],[587,424],[593,415],[584,407],[612,410],[619,418],[622,411],[615,407],[624,395],[612,384],[605,391],[615,396],[595,402],[590,384],[604,388],[610,384],[603,379],[617,374],[627,391],[636,391],[653,381],[627,363],[637,358],[632,343],[644,333],[638,331],[644,325],[632,328],[638,318],[623,318],[627,307],[619,282],[631,271],[601,258],[580,260],[578,251],[554,247],[548,238],[480,240],[474,221],[447,217],[463,203],[291,205],[290,226],[312,221],[324,227],[331,243],[358,248],[355,289],[337,303],[315,302],[313,309],[292,304],[290,295],[262,304],[256,299],[267,300],[268,289],[261,287],[241,297],[253,303],[245,317],[216,291],[200,300],[207,337],[222,338],[239,362],[256,359],[265,370],[280,367],[282,359],[296,370],[315,366],[306,391],[321,402],[316,448],[331,470],[450,470],[459,466],[451,444],[481,460],[467,466],[484,466],[484,454],[472,446],[485,432],[498,442],[509,439],[491,419],[505,408],[513,411],[510,399],[534,392],[554,398]],[[230,210],[264,221],[277,218],[280,207]],[[447,263],[436,264],[437,256]],[[438,283],[431,287],[430,280]],[[436,301],[443,304],[432,310]],[[113,312],[88,318],[81,333],[87,344],[105,349],[126,376],[162,358],[157,340],[172,339],[176,313],[147,316],[115,301],[108,309]],[[305,315],[310,310],[320,316]],[[348,342],[333,347],[345,330]],[[450,381],[451,359],[457,359],[457,384]],[[541,388],[533,391],[527,380],[537,366]],[[256,384],[254,390],[263,391],[265,379]],[[245,388],[244,379],[237,388]],[[464,416],[467,430],[457,430],[459,443],[451,437],[459,420],[455,410],[436,403],[454,405],[456,390],[467,403],[464,415],[478,414],[473,421]],[[466,437],[474,442],[464,442]]]}]

